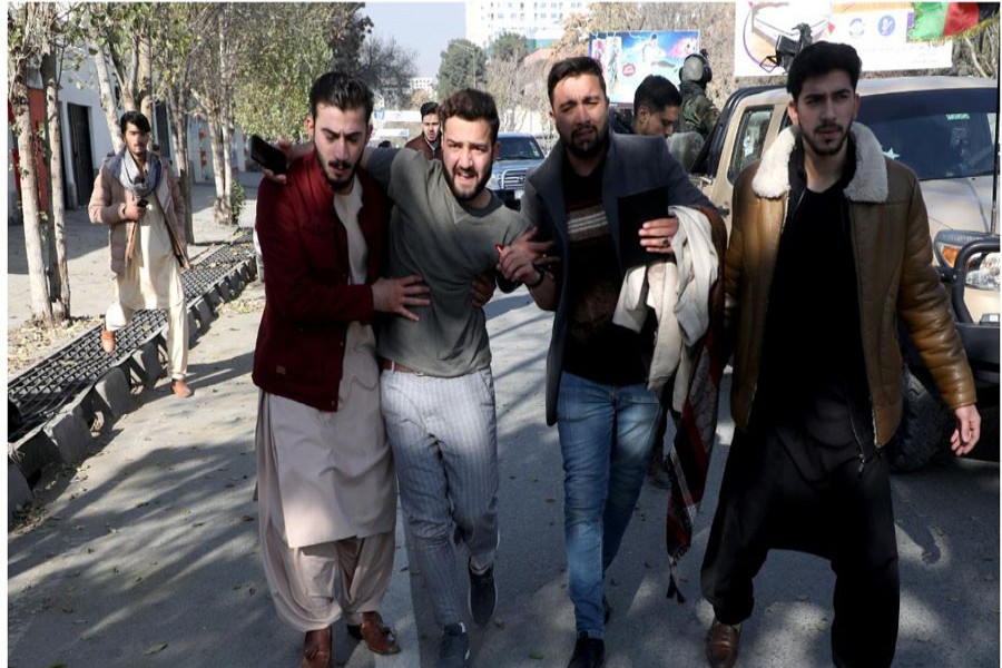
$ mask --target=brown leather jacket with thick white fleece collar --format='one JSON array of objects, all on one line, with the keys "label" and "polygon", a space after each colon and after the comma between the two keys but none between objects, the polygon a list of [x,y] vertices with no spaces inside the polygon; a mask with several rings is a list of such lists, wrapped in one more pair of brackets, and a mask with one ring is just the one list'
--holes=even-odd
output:
[{"label": "brown leather jacket with thick white fleece collar", "polygon": [[[884,444],[894,435],[902,415],[898,318],[950,409],[973,404],[975,391],[946,292],[932,266],[929,218],[918,181],[910,169],[884,157],[866,127],[854,124],[852,136],[856,174],[845,188],[845,197],[849,202],[873,426],[876,442]],[[725,262],[725,326],[735,342],[730,410],[737,426],[745,431],[760,371],[795,141],[795,129],[784,130],[762,160],[740,174],[734,188],[734,224]]]}]

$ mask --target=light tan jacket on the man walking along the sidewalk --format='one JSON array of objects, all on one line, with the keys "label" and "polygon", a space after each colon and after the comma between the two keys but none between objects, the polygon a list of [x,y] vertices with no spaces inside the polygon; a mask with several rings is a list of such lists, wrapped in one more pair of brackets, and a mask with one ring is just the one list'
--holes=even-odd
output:
[{"label": "light tan jacket on the man walking along the sidewalk", "polygon": [[[114,156],[112,156],[114,157]],[[156,189],[156,197],[167,218],[167,232],[174,246],[174,255],[181,268],[188,268],[188,242],[185,238],[185,198],[181,195],[170,161],[160,158],[163,176]],[[132,195],[125,189],[118,177],[111,173],[111,158],[105,160],[94,179],[88,213],[95,225],[108,226],[108,249],[111,254],[111,271],[121,275],[136,252],[136,222],[122,217],[126,203]]]}]

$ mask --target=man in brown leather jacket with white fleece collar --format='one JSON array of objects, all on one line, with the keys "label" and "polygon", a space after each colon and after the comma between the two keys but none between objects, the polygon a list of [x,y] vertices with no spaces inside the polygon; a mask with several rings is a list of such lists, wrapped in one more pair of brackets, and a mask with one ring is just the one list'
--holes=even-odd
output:
[{"label": "man in brown leather jacket with white fleece collar", "polygon": [[769,549],[828,559],[836,666],[890,666],[900,582],[887,461],[902,415],[897,322],[974,448],[970,367],[932,266],[915,175],[854,124],[862,63],[817,42],[794,60],[784,130],[735,185],[726,315],[737,426],[703,564],[710,666],[737,659]]}]

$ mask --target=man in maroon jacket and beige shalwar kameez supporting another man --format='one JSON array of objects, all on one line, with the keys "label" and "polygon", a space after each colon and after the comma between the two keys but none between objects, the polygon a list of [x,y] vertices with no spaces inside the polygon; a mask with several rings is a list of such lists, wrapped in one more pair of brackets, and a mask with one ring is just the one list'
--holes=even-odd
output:
[{"label": "man in maroon jacket and beige shalwar kameez supporting another man", "polygon": [[389,210],[358,167],[372,91],[328,72],[310,106],[315,159],[258,190],[268,281],[253,377],[265,574],[279,617],[306,633],[302,666],[326,668],[341,617],[372,651],[400,651],[376,611],[393,568],[396,479],[371,323],[376,312],[416,320],[410,307],[429,299],[419,276],[380,278]]}]

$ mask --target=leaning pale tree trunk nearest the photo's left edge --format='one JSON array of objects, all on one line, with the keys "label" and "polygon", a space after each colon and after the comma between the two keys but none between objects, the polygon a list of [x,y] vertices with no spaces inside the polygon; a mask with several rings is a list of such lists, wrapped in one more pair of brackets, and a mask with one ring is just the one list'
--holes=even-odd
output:
[{"label": "leaning pale tree trunk nearest the photo's left edge", "polygon": [[[20,62],[23,63],[23,60]],[[14,63],[8,62],[13,69]],[[49,303],[46,266],[42,259],[41,213],[38,207],[38,174],[35,163],[35,141],[31,131],[31,114],[28,110],[28,84],[24,70],[9,72],[10,106],[14,115],[20,153],[21,218],[24,222],[24,250],[28,257],[28,285],[31,289],[32,317],[46,325],[52,324],[52,305]]]}]

